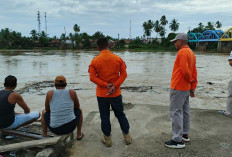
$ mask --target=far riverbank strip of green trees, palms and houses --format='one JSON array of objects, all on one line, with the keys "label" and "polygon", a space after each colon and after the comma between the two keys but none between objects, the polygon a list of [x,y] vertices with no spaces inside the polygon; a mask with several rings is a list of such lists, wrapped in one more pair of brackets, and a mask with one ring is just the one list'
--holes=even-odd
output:
[{"label": "far riverbank strip of green trees, palms and houses", "polygon": [[[167,35],[166,26],[171,33]],[[142,24],[144,35],[135,39],[119,39],[104,35],[97,31],[93,35],[86,32],[80,33],[80,26],[75,24],[73,32],[62,33],[60,37],[49,37],[44,31],[37,32],[31,30],[30,37],[22,36],[20,32],[12,31],[9,28],[1,29],[0,32],[0,49],[96,49],[96,40],[106,37],[109,40],[110,47],[113,50],[135,50],[135,51],[171,51],[175,46],[170,40],[175,38],[176,31],[179,30],[180,24],[177,19],[169,23],[166,16],[163,15],[159,20],[148,20]],[[222,27],[221,22],[208,22],[206,26],[199,23],[198,27],[189,28],[189,32],[202,33],[205,30],[215,30]],[[155,33],[155,37],[152,37]],[[196,44],[190,44],[195,49]],[[208,45],[208,49],[215,49],[216,43]]]}]

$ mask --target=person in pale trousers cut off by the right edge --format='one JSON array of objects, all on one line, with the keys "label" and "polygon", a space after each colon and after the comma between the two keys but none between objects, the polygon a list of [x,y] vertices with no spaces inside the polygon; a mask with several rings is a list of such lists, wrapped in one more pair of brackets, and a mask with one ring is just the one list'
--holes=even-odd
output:
[{"label": "person in pale trousers cut off by the right edge", "polygon": [[[228,60],[230,66],[232,66],[232,51],[230,52],[230,57]],[[228,84],[228,97],[226,101],[226,110],[220,111],[225,116],[232,117],[232,78]]]}]

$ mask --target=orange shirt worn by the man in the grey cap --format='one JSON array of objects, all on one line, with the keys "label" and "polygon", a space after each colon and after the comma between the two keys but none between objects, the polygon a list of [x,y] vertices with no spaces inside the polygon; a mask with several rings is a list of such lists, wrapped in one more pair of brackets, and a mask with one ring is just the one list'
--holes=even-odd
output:
[{"label": "orange shirt worn by the man in the grey cap", "polygon": [[197,86],[196,56],[186,45],[176,56],[173,67],[171,89],[188,91]]}]

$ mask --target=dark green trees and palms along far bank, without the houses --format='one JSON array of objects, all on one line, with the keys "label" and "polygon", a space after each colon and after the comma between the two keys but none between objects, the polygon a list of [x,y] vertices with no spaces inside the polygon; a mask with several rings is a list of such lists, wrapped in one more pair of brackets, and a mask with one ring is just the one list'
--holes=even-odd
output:
[{"label": "dark green trees and palms along far bank, without the houses", "polygon": [[[172,31],[166,35],[166,26],[169,26],[169,29]],[[143,37],[136,37],[129,43],[130,49],[174,49],[173,45],[170,44],[170,40],[173,39],[176,35],[176,31],[178,31],[180,23],[178,23],[177,19],[171,20],[169,23],[166,19],[166,16],[163,15],[159,20],[155,22],[152,20],[148,20],[143,22],[142,28],[144,31]],[[203,23],[199,23],[197,27],[190,29],[189,32],[194,33],[202,33],[205,30],[215,30],[220,29],[222,27],[222,23],[220,21],[217,22],[208,22],[206,25]],[[152,32],[156,33],[156,39],[149,41],[148,38],[151,38]],[[34,47],[48,47],[49,43],[53,40],[57,40],[62,42],[63,45],[66,44],[66,41],[71,41],[71,47],[77,49],[88,49],[91,48],[91,43],[96,41],[101,37],[106,37],[107,39],[111,39],[117,41],[117,48],[124,48],[125,41],[114,39],[110,36],[105,36],[102,32],[97,31],[93,35],[89,35],[86,32],[80,33],[80,26],[78,24],[74,24],[73,32],[66,34],[62,33],[60,37],[54,36],[49,37],[44,31],[41,33],[37,32],[35,29],[31,30],[30,37],[22,36],[20,32],[11,31],[9,28],[1,29],[0,31],[0,48],[8,49],[8,48],[23,48],[30,49]],[[157,38],[161,37],[161,41],[158,41]],[[147,41],[146,41],[147,40]]]}]

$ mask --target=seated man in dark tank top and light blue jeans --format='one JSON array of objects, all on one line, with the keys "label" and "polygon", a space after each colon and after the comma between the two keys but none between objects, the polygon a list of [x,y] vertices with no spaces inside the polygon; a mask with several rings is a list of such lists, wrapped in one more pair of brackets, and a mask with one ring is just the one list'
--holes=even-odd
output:
[{"label": "seated man in dark tank top and light blue jeans", "polygon": [[[5,78],[4,90],[0,91],[0,129],[18,129],[39,119],[40,113],[30,112],[30,108],[23,97],[14,91],[17,87],[17,78],[9,75]],[[18,104],[23,113],[15,113],[15,105]]]}]

